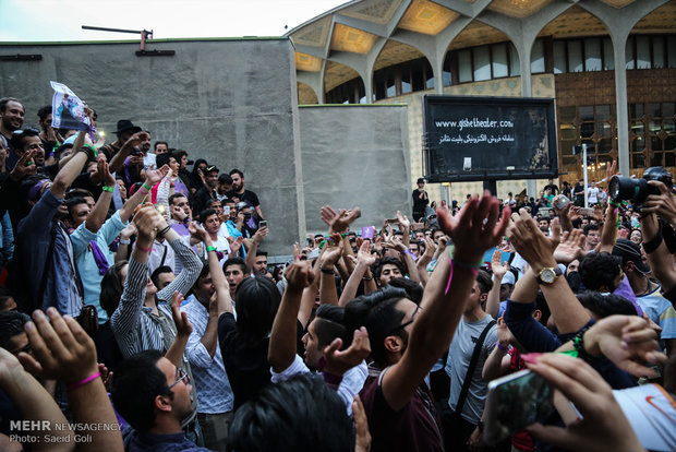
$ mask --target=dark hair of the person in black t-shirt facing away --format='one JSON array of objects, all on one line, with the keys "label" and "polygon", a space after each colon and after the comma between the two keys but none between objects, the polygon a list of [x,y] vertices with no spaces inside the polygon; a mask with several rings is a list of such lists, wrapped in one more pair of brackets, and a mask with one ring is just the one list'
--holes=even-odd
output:
[{"label": "dark hair of the person in black t-shirt facing away", "polygon": [[265,276],[246,277],[237,288],[237,335],[245,347],[255,347],[269,337],[281,296]]}]

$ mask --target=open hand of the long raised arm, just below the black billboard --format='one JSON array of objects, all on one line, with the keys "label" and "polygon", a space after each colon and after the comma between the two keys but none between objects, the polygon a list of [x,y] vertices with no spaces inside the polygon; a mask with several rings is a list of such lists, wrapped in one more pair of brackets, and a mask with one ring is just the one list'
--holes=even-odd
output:
[{"label": "open hand of the long raised arm, just below the black billboard", "polygon": [[505,207],[499,217],[499,201],[487,190],[481,200],[471,197],[455,216],[450,216],[447,209],[436,210],[439,228],[455,245],[454,255],[468,263],[481,261],[485,250],[499,243],[510,212]]}]

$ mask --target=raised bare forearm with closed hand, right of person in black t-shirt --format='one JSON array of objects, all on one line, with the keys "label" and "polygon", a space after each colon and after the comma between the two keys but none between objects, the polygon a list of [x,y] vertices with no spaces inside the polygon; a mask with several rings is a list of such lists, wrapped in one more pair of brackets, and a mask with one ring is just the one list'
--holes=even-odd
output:
[{"label": "raised bare forearm with closed hand, right of person in black t-shirt", "polygon": [[303,289],[314,275],[309,262],[293,262],[285,272],[287,288],[275,316],[267,360],[274,372],[280,373],[293,362],[295,356],[297,317],[301,305]]}]

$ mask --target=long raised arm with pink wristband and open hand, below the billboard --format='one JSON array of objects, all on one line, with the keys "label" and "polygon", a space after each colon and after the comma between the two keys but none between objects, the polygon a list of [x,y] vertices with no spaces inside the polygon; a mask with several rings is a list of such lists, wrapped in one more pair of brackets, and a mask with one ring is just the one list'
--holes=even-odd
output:
[{"label": "long raised arm with pink wristband and open hand, below the billboard", "polygon": [[[423,294],[421,309],[399,362],[383,377],[388,405],[401,409],[420,382],[448,348],[475,281],[475,266],[486,249],[497,246],[507,228],[509,209],[499,217],[499,202],[486,191],[481,201],[470,198],[456,216],[437,210],[439,227],[456,243],[452,274],[449,259],[442,259]],[[452,276],[452,277],[451,277]],[[450,281],[449,281],[450,278]]]}]

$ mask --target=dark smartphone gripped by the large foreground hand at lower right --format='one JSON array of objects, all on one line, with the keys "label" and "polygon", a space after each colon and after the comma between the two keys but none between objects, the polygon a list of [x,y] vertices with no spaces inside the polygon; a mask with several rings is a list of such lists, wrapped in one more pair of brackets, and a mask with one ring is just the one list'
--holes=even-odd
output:
[{"label": "dark smartphone gripped by the large foreground hand at lower right", "polygon": [[554,411],[554,389],[528,369],[488,383],[483,437],[495,445],[511,433],[547,418]]}]

